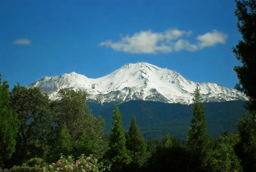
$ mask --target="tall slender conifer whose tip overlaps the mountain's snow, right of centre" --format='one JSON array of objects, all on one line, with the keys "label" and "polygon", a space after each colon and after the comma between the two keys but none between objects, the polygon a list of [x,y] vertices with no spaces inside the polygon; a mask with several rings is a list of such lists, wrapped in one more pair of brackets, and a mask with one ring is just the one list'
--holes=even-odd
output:
[{"label": "tall slender conifer whose tip overlaps the mountain's snow, right of centre", "polygon": [[207,164],[210,137],[206,133],[205,106],[202,103],[198,86],[194,91],[193,104],[193,118],[188,130],[187,147],[192,152],[192,156],[195,157],[193,159],[199,159],[200,165],[196,167],[198,168],[196,170],[202,171]]}]

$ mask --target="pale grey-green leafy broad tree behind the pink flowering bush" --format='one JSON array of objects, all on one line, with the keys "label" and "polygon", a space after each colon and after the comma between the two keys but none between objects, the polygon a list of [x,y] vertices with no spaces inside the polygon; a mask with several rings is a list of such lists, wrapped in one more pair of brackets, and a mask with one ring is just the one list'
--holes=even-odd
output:
[{"label": "pale grey-green leafy broad tree behind the pink flowering bush", "polygon": [[[97,158],[108,149],[108,142],[103,136],[104,119],[91,114],[87,104],[87,93],[63,88],[58,91],[61,98],[57,102],[58,125],[66,124],[71,136],[73,155],[90,152]],[[59,152],[60,153],[60,152]]]}]

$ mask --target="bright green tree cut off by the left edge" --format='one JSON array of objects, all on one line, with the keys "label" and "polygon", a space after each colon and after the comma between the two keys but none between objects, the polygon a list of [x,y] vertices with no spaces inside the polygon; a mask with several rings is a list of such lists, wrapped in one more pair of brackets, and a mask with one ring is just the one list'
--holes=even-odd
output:
[{"label": "bright green tree cut off by the left edge", "polygon": [[7,81],[1,82],[0,73],[0,169],[15,151],[15,136],[18,132],[17,114],[9,107],[10,94]]}]

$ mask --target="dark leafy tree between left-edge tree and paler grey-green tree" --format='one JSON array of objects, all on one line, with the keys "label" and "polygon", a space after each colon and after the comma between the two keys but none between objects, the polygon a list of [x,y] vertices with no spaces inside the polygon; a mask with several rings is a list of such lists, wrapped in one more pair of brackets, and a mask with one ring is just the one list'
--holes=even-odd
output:
[{"label": "dark leafy tree between left-edge tree and paler grey-green tree", "polygon": [[48,95],[38,87],[27,88],[17,84],[10,96],[10,105],[21,121],[16,136],[16,151],[8,161],[9,166],[12,166],[12,163],[21,165],[30,158],[44,157],[47,154],[50,140],[56,140],[56,116],[51,111]]}]

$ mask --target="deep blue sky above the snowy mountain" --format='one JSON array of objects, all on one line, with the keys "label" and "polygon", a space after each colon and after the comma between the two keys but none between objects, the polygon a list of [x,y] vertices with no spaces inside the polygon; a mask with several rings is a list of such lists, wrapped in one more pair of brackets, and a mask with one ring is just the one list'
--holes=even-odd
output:
[{"label": "deep blue sky above the snowy mountain", "polygon": [[233,88],[234,0],[0,1],[0,72],[11,87],[147,62]]}]

